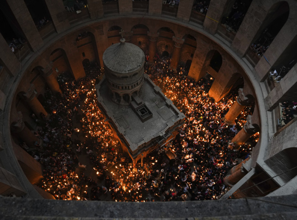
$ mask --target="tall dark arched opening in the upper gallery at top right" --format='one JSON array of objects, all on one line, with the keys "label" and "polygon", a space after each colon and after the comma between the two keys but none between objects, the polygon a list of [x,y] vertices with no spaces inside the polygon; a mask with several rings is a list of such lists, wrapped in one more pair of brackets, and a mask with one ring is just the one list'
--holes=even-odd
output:
[{"label": "tall dark arched opening in the upper gallery at top right", "polygon": [[245,54],[245,56],[248,54],[249,60],[252,60],[252,65],[255,66],[257,64],[260,57],[285,25],[289,17],[289,11],[290,8],[287,1],[278,1],[269,8],[266,17],[251,42],[249,50]]}]

